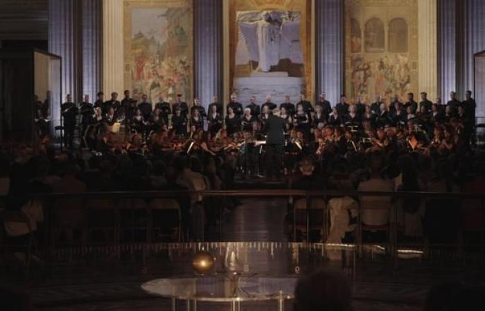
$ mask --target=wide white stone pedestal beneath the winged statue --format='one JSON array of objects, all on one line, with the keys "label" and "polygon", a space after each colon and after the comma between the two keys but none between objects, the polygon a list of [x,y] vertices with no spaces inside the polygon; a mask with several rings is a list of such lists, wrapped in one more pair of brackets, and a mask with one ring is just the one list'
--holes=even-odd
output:
[{"label": "wide white stone pedestal beneath the winged statue", "polygon": [[[305,89],[305,79],[301,77],[279,77],[274,74],[281,73],[253,73],[256,76],[239,77],[234,79],[233,90],[238,95],[238,102],[246,106],[249,97],[256,96],[256,102],[265,102],[266,95],[271,95],[272,102],[281,104],[285,96],[289,95],[292,103],[299,102],[299,94]],[[252,74],[252,75],[253,75]],[[270,74],[268,76],[268,74]]]}]

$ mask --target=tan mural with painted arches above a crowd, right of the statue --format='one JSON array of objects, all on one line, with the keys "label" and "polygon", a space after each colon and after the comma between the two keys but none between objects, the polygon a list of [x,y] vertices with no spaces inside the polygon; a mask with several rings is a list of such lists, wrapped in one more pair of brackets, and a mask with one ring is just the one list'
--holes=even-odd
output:
[{"label": "tan mural with painted arches above a crowd, right of the statue", "polygon": [[418,88],[416,0],[346,0],[346,90],[366,102]]}]

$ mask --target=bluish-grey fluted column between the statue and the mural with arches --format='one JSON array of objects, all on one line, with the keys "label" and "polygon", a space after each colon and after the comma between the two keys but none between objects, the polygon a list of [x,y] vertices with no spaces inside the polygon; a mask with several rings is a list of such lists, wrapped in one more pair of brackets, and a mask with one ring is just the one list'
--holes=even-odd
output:
[{"label": "bluish-grey fluted column between the statue and the mural with arches", "polygon": [[315,0],[315,97],[334,105],[343,91],[344,1]]}]

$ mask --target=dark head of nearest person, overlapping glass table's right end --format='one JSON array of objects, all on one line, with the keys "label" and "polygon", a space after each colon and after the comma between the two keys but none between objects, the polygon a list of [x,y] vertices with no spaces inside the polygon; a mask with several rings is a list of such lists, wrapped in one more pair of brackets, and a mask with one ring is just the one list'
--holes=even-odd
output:
[{"label": "dark head of nearest person, overlapping glass table's right end", "polygon": [[342,274],[320,271],[303,276],[294,290],[295,311],[351,311],[352,292]]}]

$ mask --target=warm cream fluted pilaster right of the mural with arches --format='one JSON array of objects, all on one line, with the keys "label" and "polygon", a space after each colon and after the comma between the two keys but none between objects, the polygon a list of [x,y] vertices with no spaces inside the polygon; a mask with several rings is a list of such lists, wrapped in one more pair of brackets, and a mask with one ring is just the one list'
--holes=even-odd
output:
[{"label": "warm cream fluted pilaster right of the mural with arches", "polygon": [[419,91],[431,100],[438,95],[437,0],[418,1]]}]

